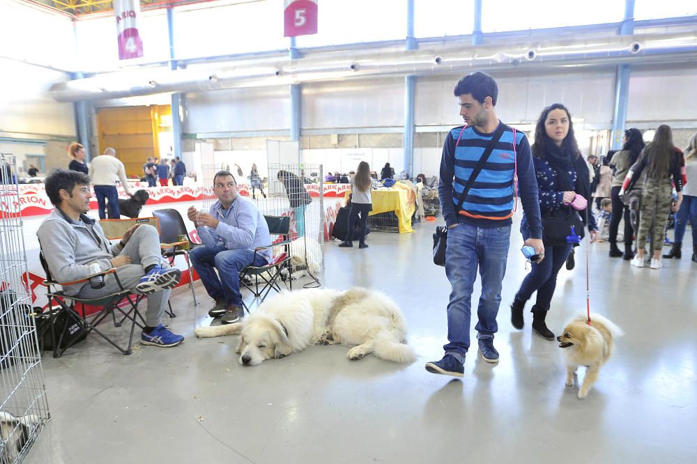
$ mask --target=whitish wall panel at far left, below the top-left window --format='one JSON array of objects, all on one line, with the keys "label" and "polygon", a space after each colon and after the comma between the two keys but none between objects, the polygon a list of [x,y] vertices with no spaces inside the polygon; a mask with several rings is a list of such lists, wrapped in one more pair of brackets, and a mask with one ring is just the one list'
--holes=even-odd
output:
[{"label": "whitish wall panel at far left, below the top-left window", "polygon": [[72,103],[56,102],[49,88],[63,72],[0,59],[0,131],[75,135]]}]

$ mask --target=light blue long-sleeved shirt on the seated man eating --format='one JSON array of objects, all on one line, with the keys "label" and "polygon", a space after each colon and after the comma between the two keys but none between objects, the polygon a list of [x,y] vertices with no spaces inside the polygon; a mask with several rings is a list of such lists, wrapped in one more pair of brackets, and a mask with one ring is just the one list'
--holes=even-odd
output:
[{"label": "light blue long-sleeved shirt on the seated man eating", "polygon": [[[222,207],[220,201],[216,201],[208,212],[220,222],[215,229],[207,226],[196,228],[201,242],[206,247],[224,245],[227,249],[254,250],[256,247],[271,245],[266,219],[254,203],[245,197],[238,195],[227,210]],[[273,261],[270,248],[261,250],[259,254],[266,258],[267,263]]]}]

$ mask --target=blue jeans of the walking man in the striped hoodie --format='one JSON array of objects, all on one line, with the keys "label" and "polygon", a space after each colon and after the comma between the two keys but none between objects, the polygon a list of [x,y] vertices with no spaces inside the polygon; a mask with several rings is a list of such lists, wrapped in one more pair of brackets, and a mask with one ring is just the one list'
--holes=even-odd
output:
[{"label": "blue jeans of the walking man in the striped hoodie", "polygon": [[501,302],[501,287],[506,274],[511,226],[484,228],[467,223],[447,231],[445,274],[452,286],[447,304],[446,354],[464,362],[470,347],[472,291],[477,266],[482,277],[482,295],[477,307],[477,338],[493,338],[498,330],[496,314]]}]

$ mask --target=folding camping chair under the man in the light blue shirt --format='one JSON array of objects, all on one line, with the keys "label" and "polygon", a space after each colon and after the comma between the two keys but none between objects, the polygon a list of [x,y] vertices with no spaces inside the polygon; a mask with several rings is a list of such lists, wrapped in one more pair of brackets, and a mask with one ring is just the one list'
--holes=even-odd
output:
[{"label": "folding camping chair under the man in the light blue shirt", "polygon": [[[254,298],[261,298],[260,302],[266,299],[270,291],[281,291],[279,279],[284,278],[284,269],[288,272],[287,286],[291,290],[293,288],[293,281],[291,279],[291,240],[289,240],[288,237],[291,229],[291,217],[265,215],[264,219],[266,219],[268,231],[272,240],[274,237],[275,240],[273,240],[268,247],[258,247],[254,249],[254,258],[256,258],[256,254],[261,252],[261,250],[270,248],[274,250],[273,261],[263,266],[247,266],[240,271],[240,284],[248,288],[254,294]],[[246,278],[249,278],[251,283],[247,282]],[[244,302],[243,305],[245,309],[247,309],[247,312],[249,312],[250,309]]]}]

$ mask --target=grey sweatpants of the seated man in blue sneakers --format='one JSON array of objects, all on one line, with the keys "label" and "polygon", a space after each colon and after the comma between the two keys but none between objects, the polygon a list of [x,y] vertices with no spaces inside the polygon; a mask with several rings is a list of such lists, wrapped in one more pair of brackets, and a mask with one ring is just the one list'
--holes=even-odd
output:
[{"label": "grey sweatpants of the seated man in blue sneakers", "polygon": [[[160,252],[160,235],[158,229],[146,224],[135,229],[130,240],[123,247],[119,255],[126,255],[133,261],[132,264],[126,264],[116,268],[116,275],[121,281],[124,288],[130,288],[134,293],[135,286],[141,277],[145,275],[145,268],[149,265],[162,265],[169,268],[169,265],[162,259]],[[88,285],[84,286],[77,294],[82,298],[98,298],[109,293],[121,291],[121,287],[116,282],[114,274],[107,274],[104,279],[102,288],[94,289]],[[148,327],[157,327],[162,321],[164,308],[169,301],[169,288],[151,293],[148,295],[148,309],[145,313],[145,323]]]}]

